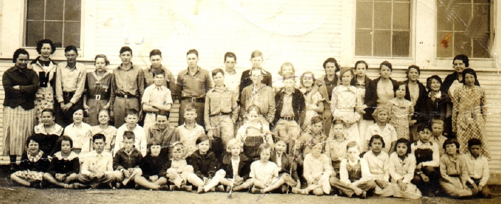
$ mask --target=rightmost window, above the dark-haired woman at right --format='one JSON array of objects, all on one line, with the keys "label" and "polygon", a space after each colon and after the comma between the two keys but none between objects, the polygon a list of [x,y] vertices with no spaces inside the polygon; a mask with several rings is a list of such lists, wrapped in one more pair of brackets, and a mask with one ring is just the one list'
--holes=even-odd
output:
[{"label": "rightmost window, above the dark-haired woman at right", "polygon": [[436,57],[490,58],[490,0],[437,0]]}]

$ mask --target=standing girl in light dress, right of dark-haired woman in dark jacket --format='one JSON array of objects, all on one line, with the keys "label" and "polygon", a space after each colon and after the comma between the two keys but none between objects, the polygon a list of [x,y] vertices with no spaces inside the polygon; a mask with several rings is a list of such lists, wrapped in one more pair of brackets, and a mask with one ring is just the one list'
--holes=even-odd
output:
[{"label": "standing girl in light dress, right of dark-haired woman in dark jacket", "polygon": [[[333,89],[333,96],[330,100],[330,109],[334,120],[343,120],[345,123],[345,132],[350,136],[351,141],[360,144],[360,135],[358,132],[358,120],[360,120],[360,111],[363,111],[360,95],[357,94],[357,88],[351,86],[353,72],[350,68],[343,68],[340,72],[341,84]],[[329,136],[333,136],[333,130],[330,130]]]}]

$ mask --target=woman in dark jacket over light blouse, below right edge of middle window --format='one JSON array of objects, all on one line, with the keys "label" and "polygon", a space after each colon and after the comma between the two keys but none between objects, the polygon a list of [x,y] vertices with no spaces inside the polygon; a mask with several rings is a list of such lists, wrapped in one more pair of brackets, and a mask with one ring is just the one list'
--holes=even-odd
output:
[{"label": "woman in dark jacket over light blouse, below right edge of middle window", "polygon": [[397,81],[392,79],[392,63],[388,61],[379,64],[379,75],[372,81],[372,84],[365,89],[365,115],[372,115],[377,107],[386,106],[386,103],[395,97],[394,91],[397,89]]}]

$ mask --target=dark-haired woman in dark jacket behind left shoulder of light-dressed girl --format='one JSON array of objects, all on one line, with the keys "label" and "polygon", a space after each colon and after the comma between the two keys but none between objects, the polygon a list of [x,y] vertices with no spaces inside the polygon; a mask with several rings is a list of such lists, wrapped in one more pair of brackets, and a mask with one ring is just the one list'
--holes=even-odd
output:
[{"label": "dark-haired woman in dark jacket behind left shoulder of light-dressed girl", "polygon": [[317,79],[317,85],[319,87],[320,94],[322,94],[325,100],[323,101],[323,107],[325,110],[322,114],[323,119],[323,132],[327,134],[330,131],[330,123],[333,121],[333,115],[330,112],[330,99],[332,98],[333,89],[339,84],[338,73],[341,68],[339,67],[338,61],[333,57],[329,57],[323,62],[323,69],[325,69],[325,75]]}]

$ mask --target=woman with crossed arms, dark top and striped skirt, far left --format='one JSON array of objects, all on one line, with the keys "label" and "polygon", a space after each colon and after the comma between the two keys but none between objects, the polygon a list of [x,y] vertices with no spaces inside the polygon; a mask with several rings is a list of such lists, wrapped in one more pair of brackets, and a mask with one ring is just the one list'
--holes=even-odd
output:
[{"label": "woman with crossed arms, dark top and striped skirt, far left", "polygon": [[11,170],[16,164],[16,155],[25,153],[26,139],[33,135],[35,126],[35,93],[38,77],[33,69],[27,69],[30,55],[24,49],[14,52],[14,67],[2,76],[4,100],[4,155],[11,159]]}]

